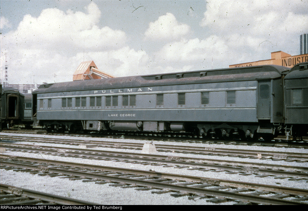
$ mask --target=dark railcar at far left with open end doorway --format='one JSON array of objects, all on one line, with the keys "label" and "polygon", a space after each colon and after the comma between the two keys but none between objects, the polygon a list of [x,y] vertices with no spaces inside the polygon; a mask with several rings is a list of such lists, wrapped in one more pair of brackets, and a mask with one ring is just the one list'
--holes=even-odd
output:
[{"label": "dark railcar at far left with open end doorway", "polygon": [[24,115],[24,95],[17,89],[2,88],[1,94],[1,126],[8,128],[21,124]]}]

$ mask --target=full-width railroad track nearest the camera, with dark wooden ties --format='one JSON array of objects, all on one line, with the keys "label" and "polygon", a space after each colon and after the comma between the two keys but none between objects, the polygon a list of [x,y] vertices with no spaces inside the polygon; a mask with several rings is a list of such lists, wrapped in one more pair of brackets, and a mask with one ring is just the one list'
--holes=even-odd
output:
[{"label": "full-width railroad track nearest the camera, with dark wooden ties", "polygon": [[84,163],[0,155],[2,169],[58,176],[71,180],[171,193],[173,196],[207,197],[208,201],[235,204],[307,205],[308,191],[237,181],[215,180],[155,171],[143,171]]}]

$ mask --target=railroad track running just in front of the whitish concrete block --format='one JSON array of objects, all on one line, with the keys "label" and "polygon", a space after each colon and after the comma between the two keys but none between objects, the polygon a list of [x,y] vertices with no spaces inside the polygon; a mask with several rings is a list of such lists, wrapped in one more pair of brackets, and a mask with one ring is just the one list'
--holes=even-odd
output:
[{"label": "railroad track running just in front of the whitish concrete block", "polygon": [[11,151],[32,153],[46,153],[55,156],[68,156],[75,158],[105,159],[125,162],[137,162],[143,165],[171,165],[176,168],[190,167],[200,171],[226,171],[237,172],[243,175],[255,174],[257,177],[274,175],[276,178],[308,179],[308,167],[264,164],[256,162],[240,162],[207,158],[176,157],[159,154],[140,154],[129,152],[116,152],[107,150],[91,150],[69,147],[33,146],[29,144],[1,143],[1,148]]}]

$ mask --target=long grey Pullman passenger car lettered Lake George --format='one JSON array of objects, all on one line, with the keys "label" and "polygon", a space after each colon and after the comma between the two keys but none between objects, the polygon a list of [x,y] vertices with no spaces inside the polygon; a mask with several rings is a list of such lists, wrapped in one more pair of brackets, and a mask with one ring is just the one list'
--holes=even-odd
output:
[{"label": "long grey Pullman passenger car lettered Lake George", "polygon": [[284,123],[283,76],[265,65],[43,84],[33,113],[48,130],[190,131],[271,139]]}]

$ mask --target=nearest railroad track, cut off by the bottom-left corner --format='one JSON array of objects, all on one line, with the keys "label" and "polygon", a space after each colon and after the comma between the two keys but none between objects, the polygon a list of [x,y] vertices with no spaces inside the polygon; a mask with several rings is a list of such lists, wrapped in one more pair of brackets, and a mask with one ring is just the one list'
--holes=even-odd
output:
[{"label": "nearest railroad track, cut off by the bottom-left corner", "polygon": [[0,184],[1,205],[97,205],[91,202]]}]

